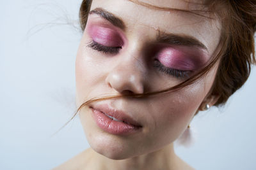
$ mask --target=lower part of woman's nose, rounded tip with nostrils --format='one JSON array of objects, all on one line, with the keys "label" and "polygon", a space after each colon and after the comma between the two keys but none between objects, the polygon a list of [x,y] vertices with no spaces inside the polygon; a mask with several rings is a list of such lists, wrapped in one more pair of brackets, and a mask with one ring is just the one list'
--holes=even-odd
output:
[{"label": "lower part of woman's nose, rounded tip with nostrils", "polygon": [[145,76],[143,66],[139,62],[137,59],[116,62],[106,77],[106,83],[121,94],[143,94]]}]

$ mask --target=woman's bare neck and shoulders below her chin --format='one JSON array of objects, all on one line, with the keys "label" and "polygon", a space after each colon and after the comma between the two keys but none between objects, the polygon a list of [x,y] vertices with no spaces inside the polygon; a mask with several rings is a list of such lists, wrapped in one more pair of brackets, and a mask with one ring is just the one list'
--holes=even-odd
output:
[{"label": "woman's bare neck and shoulders below her chin", "polygon": [[[98,160],[99,162],[105,162],[105,164],[95,163],[93,160]],[[145,164],[147,162],[147,164]],[[112,160],[108,159],[99,153],[88,148],[84,152],[79,153],[76,157],[68,160],[61,166],[54,168],[53,170],[70,170],[70,169],[122,169],[122,170],[192,170],[193,167],[189,166],[186,162],[180,159],[173,152],[173,146],[168,145],[159,151],[152,152],[140,157],[134,157],[127,160]]]}]

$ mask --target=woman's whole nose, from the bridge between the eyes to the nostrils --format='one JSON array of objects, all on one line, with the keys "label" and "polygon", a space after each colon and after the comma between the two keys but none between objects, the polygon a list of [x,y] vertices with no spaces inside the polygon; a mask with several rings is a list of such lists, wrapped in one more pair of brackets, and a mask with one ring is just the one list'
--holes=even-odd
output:
[{"label": "woman's whole nose, from the bridge between the eyes to the nostrils", "polygon": [[142,94],[145,86],[145,72],[141,48],[134,43],[116,56],[115,66],[109,71],[106,83],[120,93]]}]

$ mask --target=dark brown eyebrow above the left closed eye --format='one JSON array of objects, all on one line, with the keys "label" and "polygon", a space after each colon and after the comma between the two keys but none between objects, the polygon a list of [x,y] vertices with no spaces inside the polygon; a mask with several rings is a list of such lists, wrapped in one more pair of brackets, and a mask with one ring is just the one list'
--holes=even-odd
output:
[{"label": "dark brown eyebrow above the left closed eye", "polygon": [[103,10],[102,8],[95,8],[95,10],[90,11],[89,14],[97,14],[100,17],[108,20],[111,24],[115,25],[116,27],[119,27],[122,30],[125,30],[126,26],[120,18],[113,15],[113,13],[110,13],[109,11]]}]

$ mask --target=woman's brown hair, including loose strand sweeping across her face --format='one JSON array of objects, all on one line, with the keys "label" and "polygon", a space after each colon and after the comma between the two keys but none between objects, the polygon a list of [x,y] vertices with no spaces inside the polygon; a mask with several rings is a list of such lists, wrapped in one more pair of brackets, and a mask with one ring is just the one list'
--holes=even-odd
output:
[{"label": "woman's brown hair, including loose strand sweeping across her face", "polygon": [[[175,10],[192,13],[193,15],[202,15],[203,13],[216,15],[221,20],[222,31],[220,44],[217,48],[220,48],[219,52],[215,53],[211,62],[200,71],[200,73],[192,76],[186,81],[183,81],[175,87],[169,89],[160,90],[157,92],[146,92],[145,94],[124,94],[122,96],[127,97],[145,97],[152,96],[164,92],[170,92],[173,90],[179,90],[186,85],[193,83],[198,78],[203,78],[220,60],[218,71],[214,84],[212,85],[211,94],[218,95],[220,98],[214,104],[218,106],[225,104],[228,97],[230,97],[237,89],[239,89],[247,80],[251,64],[255,64],[255,50],[254,50],[254,33],[256,31],[256,2],[253,0],[216,0],[206,1],[203,5],[207,6],[207,10],[179,10],[173,8],[164,8],[159,6],[153,6],[152,4],[143,3],[138,0],[129,0],[133,3],[137,3],[148,8],[155,8],[156,10]],[[83,0],[79,12],[79,18],[81,23],[81,29],[84,30],[90,11],[92,0]],[[102,101],[105,99],[113,99],[122,96],[107,96],[98,97],[83,103],[78,109],[81,110],[83,106],[94,101]],[[76,113],[77,113],[76,112]],[[76,114],[75,114],[76,115]],[[74,115],[74,116],[75,116]]]}]

